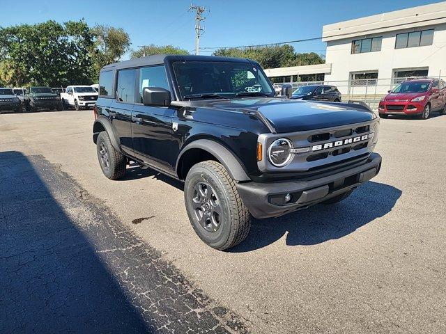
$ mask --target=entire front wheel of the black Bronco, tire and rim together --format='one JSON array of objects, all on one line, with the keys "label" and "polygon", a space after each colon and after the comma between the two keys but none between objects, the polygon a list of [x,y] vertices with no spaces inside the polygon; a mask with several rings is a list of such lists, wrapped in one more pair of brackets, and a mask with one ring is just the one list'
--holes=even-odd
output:
[{"label": "entire front wheel of the black Bronco, tire and rim together", "polygon": [[187,173],[184,196],[192,228],[209,246],[225,250],[247,237],[251,215],[222,164],[208,160],[194,165]]}]

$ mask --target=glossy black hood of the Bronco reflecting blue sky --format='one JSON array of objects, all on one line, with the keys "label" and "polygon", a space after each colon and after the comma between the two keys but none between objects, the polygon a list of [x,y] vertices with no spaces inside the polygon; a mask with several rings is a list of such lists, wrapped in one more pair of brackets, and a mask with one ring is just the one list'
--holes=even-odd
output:
[{"label": "glossy black hood of the Bronco reflecting blue sky", "polygon": [[287,100],[287,99],[236,99],[208,101],[210,106],[236,111],[259,111],[277,133],[307,131],[337,127],[376,118],[372,111],[351,104]]}]

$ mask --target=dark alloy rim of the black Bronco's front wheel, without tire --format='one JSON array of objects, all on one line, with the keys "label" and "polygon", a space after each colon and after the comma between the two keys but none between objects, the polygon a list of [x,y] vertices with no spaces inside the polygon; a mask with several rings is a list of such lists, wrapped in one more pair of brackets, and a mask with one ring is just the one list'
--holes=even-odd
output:
[{"label": "dark alloy rim of the black Bronco's front wheel, without tire", "polygon": [[194,185],[192,205],[197,221],[206,231],[216,232],[220,228],[222,207],[210,184],[199,182]]}]

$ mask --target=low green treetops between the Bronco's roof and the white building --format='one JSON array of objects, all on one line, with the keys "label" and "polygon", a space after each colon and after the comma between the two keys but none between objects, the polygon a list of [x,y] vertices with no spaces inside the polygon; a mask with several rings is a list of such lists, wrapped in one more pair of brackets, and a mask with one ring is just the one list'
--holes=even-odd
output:
[{"label": "low green treetops between the Bronco's roof and the white building", "polygon": [[292,45],[248,47],[245,49],[217,49],[217,51],[214,52],[214,55],[249,58],[253,61],[257,61],[263,68],[277,68],[325,63],[325,60],[314,52],[296,54]]}]

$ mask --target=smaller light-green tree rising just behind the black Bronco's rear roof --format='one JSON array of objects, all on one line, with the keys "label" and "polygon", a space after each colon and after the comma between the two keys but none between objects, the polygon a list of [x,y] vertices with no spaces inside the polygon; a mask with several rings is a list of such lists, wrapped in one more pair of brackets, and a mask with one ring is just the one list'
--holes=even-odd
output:
[{"label": "smaller light-green tree rising just behind the black Bronco's rear roof", "polygon": [[105,65],[116,63],[129,50],[130,37],[122,28],[97,25],[91,29],[94,43],[91,49],[93,58],[93,78],[98,80],[99,72]]}]

